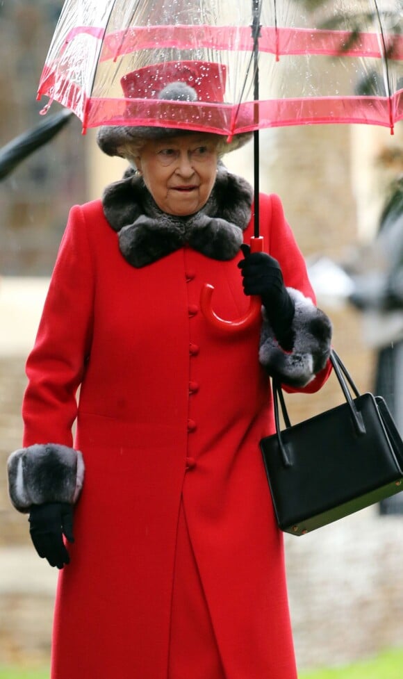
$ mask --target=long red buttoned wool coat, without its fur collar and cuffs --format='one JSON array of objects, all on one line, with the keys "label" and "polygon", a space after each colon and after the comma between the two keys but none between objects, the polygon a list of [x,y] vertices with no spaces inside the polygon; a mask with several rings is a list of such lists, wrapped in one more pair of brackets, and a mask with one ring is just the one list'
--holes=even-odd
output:
[{"label": "long red buttoned wool coat, without its fur collar and cuffs", "polygon": [[[261,223],[286,285],[313,298],[277,197]],[[186,246],[137,269],[101,202],[69,215],[23,407],[24,445],[73,445],[77,418],[86,468],[58,584],[54,679],[167,679],[181,497],[227,679],[295,679],[282,536],[258,448],[273,432],[260,324],[228,335],[199,309],[208,282],[220,316],[245,313],[241,256]]]}]

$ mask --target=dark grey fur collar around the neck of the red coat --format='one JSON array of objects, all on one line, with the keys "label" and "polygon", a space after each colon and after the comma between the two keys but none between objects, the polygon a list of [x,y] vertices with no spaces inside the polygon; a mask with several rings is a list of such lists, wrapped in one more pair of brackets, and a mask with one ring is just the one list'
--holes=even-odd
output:
[{"label": "dark grey fur collar around the neck of the red coat", "polygon": [[106,188],[102,204],[106,220],[119,234],[124,259],[141,268],[186,243],[211,259],[232,259],[250,220],[252,193],[245,179],[219,163],[208,202],[194,215],[175,217],[161,211],[133,170]]}]

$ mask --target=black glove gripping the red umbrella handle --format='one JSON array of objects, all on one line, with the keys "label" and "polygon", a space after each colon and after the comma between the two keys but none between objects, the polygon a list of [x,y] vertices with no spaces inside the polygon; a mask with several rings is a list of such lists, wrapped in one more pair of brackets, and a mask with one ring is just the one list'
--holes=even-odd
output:
[{"label": "black glove gripping the red umbrella handle", "polygon": [[283,282],[277,259],[265,252],[250,253],[249,245],[241,245],[245,259],[238,263],[243,277],[245,295],[260,295],[274,330],[277,342],[292,351],[294,332],[291,328],[295,314],[294,302]]}]

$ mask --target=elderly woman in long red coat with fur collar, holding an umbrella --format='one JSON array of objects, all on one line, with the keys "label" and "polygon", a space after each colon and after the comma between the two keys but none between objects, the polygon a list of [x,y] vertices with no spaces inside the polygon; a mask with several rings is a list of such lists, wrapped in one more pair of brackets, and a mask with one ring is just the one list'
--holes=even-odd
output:
[{"label": "elderly woman in long red coat with fur collar, holding an umbrella", "polygon": [[[132,169],[69,215],[9,460],[13,504],[61,569],[52,677],[295,679],[258,443],[270,375],[326,379],[329,320],[277,196],[261,196],[270,254],[242,245],[252,190],[220,156],[245,139],[108,127],[98,141]],[[220,316],[253,294],[262,318],[213,327],[206,282]]]}]

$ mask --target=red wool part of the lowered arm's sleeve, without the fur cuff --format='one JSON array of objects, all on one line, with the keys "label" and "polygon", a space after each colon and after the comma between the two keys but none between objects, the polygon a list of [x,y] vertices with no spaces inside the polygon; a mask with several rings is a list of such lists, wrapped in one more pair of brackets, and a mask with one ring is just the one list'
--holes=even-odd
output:
[{"label": "red wool part of the lowered arm's sleeve, without the fur cuff", "polygon": [[83,208],[69,214],[35,345],[26,363],[24,445],[72,445],[76,391],[92,337],[94,262]]}]

